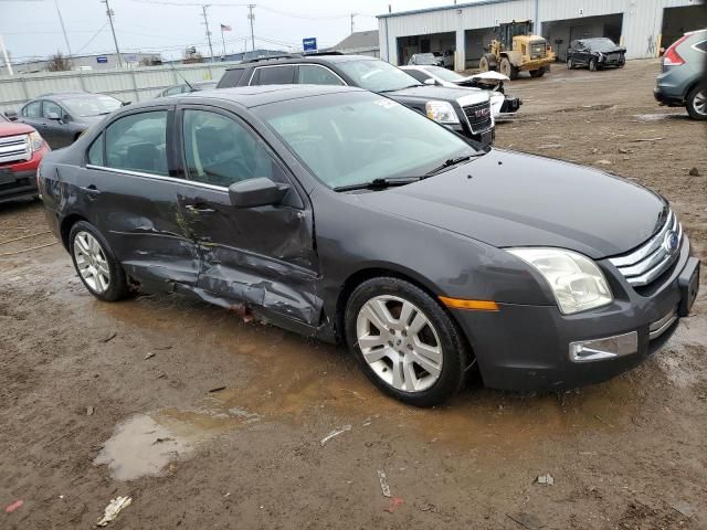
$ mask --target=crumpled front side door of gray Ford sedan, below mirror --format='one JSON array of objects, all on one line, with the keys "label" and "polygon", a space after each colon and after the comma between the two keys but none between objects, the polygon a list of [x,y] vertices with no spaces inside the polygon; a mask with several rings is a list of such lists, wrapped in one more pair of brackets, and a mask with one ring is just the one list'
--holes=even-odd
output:
[{"label": "crumpled front side door of gray Ford sedan, below mirror", "polygon": [[[316,327],[312,209],[285,166],[234,114],[184,105],[178,116],[183,169],[194,184],[179,204],[201,254],[199,294],[226,307],[244,304],[291,329]],[[258,200],[263,183],[278,197]]]}]

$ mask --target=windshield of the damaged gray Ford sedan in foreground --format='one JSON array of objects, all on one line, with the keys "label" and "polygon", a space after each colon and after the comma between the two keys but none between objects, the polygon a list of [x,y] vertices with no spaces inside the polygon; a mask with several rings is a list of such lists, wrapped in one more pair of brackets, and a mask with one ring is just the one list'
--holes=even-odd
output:
[{"label": "windshield of the damaged gray Ford sedan in foreground", "polygon": [[329,188],[422,177],[476,151],[462,138],[391,99],[331,94],[258,107],[287,147]]}]

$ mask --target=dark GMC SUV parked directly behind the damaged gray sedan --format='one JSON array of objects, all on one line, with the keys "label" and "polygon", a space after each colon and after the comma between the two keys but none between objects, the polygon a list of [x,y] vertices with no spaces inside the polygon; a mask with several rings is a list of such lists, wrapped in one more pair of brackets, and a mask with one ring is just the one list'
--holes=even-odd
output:
[{"label": "dark GMC SUV parked directly behind the damaged gray sedan", "polygon": [[358,86],[388,96],[482,146],[494,141],[495,124],[487,94],[422,84],[402,70],[365,55],[254,59],[228,68],[218,88],[288,84]]}]

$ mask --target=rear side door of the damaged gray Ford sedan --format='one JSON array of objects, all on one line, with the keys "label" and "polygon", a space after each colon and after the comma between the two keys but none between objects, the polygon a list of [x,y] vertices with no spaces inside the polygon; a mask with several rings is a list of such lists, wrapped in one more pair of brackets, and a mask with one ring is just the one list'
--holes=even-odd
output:
[{"label": "rear side door of the damaged gray Ford sedan", "polygon": [[108,240],[128,275],[146,290],[194,286],[199,254],[178,208],[188,183],[176,178],[173,106],[115,118],[87,150],[83,211]]}]

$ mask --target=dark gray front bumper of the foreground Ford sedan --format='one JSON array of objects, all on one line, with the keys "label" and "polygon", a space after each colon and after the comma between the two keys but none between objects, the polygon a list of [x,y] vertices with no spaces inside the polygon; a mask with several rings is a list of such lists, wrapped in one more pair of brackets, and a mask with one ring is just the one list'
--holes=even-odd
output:
[{"label": "dark gray front bumper of the foreground Ford sedan", "polygon": [[[684,272],[694,263],[684,239],[675,266],[650,296],[636,293],[620,273],[610,279],[615,300],[577,315],[562,315],[557,306],[499,304],[498,311],[455,310],[484,384],[513,391],[562,390],[606,381],[653,356],[675,331]],[[602,264],[604,268],[611,265]],[[667,274],[667,273],[666,273]],[[656,330],[661,328],[661,332]],[[635,332],[635,352],[577,362],[570,344]],[[626,350],[627,351],[627,350]]]}]

